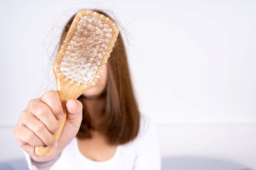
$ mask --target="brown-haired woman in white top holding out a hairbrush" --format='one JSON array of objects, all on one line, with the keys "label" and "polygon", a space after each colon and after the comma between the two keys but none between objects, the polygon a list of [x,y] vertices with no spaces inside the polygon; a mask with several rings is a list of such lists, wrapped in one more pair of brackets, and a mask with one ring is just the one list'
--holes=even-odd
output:
[{"label": "brown-haired woman in white top holding out a hairbrush", "polygon": [[[14,134],[30,169],[160,169],[156,129],[139,113],[120,34],[99,82],[66,106],[67,120],[58,141],[53,134],[63,110],[56,91],[29,101],[21,112]],[[53,149],[45,157],[36,156],[34,147],[43,145]]]}]

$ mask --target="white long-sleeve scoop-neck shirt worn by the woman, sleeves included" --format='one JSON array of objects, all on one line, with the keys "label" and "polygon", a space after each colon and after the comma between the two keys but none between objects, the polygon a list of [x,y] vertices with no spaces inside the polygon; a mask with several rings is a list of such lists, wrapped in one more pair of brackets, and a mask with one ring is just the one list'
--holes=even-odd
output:
[{"label": "white long-sleeve scoop-neck shirt worn by the woman, sleeves included", "polygon": [[56,158],[37,162],[25,152],[29,169],[50,170],[160,170],[160,152],[156,127],[146,115],[141,115],[137,137],[127,144],[118,145],[114,156],[107,161],[93,161],[79,151],[77,138]]}]

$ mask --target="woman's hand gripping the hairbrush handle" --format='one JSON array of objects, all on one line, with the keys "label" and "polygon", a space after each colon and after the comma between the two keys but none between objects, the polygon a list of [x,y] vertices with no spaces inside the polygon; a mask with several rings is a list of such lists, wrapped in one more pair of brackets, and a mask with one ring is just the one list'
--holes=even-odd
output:
[{"label": "woman's hand gripping the hairbrush handle", "polygon": [[[59,129],[57,119],[63,118],[63,109],[56,91],[48,91],[41,98],[29,101],[14,126],[16,141],[35,161],[49,161],[56,157],[76,136],[82,121],[82,103],[70,99],[66,103],[67,120],[56,141],[53,134]],[[47,145],[51,151],[44,157],[35,154],[35,147]]]}]

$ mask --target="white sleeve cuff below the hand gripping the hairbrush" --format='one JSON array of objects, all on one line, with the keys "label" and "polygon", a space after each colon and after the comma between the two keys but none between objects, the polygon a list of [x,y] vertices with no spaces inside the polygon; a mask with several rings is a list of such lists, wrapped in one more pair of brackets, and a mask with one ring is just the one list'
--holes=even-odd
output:
[{"label": "white sleeve cuff below the hand gripping the hairbrush", "polygon": [[[23,149],[22,149],[23,150]],[[60,158],[60,155],[57,155],[54,159],[50,160],[50,161],[46,161],[46,162],[37,162],[35,161],[34,159],[32,159],[28,153],[26,153],[24,150],[23,150],[24,154],[25,154],[25,157],[26,157],[26,161],[28,163],[28,166],[29,166],[29,169],[30,170],[51,170],[53,169],[54,165],[57,164],[59,158]]]}]

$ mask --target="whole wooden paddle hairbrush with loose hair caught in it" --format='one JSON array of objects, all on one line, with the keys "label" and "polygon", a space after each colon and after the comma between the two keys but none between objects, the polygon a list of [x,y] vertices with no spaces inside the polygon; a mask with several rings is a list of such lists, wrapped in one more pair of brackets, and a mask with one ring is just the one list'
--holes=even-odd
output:
[{"label": "whole wooden paddle hairbrush with loose hair caught in it", "polygon": [[[64,116],[59,123],[59,139],[67,119],[66,103],[77,99],[99,80],[104,64],[117,40],[119,28],[109,18],[90,10],[80,10],[61,44],[54,62],[57,93]],[[47,146],[35,147],[35,154],[44,157],[50,152]]]}]

